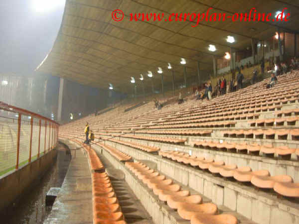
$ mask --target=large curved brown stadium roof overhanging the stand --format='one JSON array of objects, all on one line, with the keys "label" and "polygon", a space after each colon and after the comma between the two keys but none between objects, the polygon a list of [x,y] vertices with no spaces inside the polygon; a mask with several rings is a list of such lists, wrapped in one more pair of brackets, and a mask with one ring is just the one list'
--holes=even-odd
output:
[{"label": "large curved brown stadium roof overhanging the stand", "polygon": [[[228,3],[229,2],[229,3]],[[130,13],[249,13],[252,7],[273,15],[284,7],[291,13],[289,21],[130,21]],[[122,21],[112,19],[112,11],[124,12]],[[253,17],[253,16],[252,16]],[[197,61],[203,76],[213,70],[212,57],[223,57],[230,48],[245,49],[251,38],[263,40],[281,31],[298,32],[299,2],[294,0],[66,0],[60,31],[47,58],[37,72],[50,73],[75,82],[99,88],[109,83],[121,92],[132,92],[130,77],[145,77],[148,71],[159,79],[161,67],[164,82],[171,82],[170,63],[175,76],[183,76],[181,58],[186,59],[187,77],[197,72]],[[226,41],[235,38],[234,43]],[[209,44],[216,51],[208,50]]]}]

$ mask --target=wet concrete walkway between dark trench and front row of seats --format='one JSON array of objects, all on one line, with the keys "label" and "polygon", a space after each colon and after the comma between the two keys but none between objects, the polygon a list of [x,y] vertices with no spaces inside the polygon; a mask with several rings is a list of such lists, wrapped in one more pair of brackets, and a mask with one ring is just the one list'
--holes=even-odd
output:
[{"label": "wet concrete walkway between dark trench and front row of seats", "polygon": [[72,157],[52,211],[44,224],[92,224],[92,221],[92,185],[88,159],[83,151],[76,150],[76,156]]}]

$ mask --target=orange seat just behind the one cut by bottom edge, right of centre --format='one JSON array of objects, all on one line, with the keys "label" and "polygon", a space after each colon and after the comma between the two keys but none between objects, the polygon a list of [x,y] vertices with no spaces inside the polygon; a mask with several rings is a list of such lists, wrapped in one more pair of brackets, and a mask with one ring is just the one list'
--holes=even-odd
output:
[{"label": "orange seat just behind the one cut by bottom edge, right of centre", "polygon": [[196,214],[217,214],[217,206],[212,203],[190,204],[185,202],[177,203],[177,213],[184,220],[191,220]]}]

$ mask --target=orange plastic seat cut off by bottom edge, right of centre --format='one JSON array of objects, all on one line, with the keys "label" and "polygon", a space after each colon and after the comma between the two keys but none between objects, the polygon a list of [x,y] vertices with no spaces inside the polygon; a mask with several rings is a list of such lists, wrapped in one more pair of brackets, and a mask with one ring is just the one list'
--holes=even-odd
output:
[{"label": "orange plastic seat cut off by bottom edge, right of centre", "polygon": [[191,224],[237,224],[236,217],[230,214],[205,215],[197,214],[191,217]]}]

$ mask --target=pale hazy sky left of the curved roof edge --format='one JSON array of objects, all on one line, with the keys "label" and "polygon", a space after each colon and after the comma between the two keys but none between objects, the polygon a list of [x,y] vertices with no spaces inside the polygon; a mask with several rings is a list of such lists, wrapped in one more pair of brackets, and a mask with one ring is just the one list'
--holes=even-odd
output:
[{"label": "pale hazy sky left of the curved roof edge", "polygon": [[0,0],[0,74],[30,75],[53,46],[65,0]]}]

